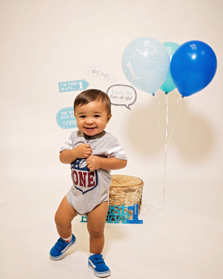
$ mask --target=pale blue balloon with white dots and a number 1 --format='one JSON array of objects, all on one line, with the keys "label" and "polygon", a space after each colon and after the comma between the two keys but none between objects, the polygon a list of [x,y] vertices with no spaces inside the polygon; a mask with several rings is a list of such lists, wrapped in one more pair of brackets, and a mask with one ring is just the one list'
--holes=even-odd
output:
[{"label": "pale blue balloon with white dots and a number 1", "polygon": [[168,75],[169,54],[166,47],[158,40],[151,37],[139,37],[125,48],[122,68],[132,85],[154,94]]}]

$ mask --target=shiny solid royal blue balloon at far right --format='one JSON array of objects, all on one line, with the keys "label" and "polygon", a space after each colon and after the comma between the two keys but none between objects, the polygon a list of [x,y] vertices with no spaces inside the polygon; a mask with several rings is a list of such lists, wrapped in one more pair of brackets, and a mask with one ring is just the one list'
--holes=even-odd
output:
[{"label": "shiny solid royal blue balloon at far right", "polygon": [[204,89],[212,81],[216,69],[217,58],[213,49],[201,41],[182,44],[170,63],[173,82],[182,96]]}]

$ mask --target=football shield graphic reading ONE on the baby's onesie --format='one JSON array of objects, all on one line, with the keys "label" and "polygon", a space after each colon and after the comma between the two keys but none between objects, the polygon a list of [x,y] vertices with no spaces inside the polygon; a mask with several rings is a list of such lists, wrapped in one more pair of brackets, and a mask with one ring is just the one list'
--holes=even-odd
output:
[{"label": "football shield graphic reading ONE on the baby's onesie", "polygon": [[71,177],[74,187],[83,195],[98,185],[97,170],[90,171],[88,169],[86,158],[76,159],[71,163]]}]

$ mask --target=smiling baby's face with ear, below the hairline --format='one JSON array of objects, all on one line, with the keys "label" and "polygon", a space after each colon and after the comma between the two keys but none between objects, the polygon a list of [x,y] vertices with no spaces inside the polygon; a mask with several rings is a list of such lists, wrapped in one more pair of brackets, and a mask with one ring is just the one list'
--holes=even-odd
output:
[{"label": "smiling baby's face with ear, below the hairline", "polygon": [[87,105],[78,105],[75,108],[75,117],[77,119],[78,129],[88,135],[98,135],[105,129],[111,114],[107,115],[105,107],[101,101],[91,102]]}]

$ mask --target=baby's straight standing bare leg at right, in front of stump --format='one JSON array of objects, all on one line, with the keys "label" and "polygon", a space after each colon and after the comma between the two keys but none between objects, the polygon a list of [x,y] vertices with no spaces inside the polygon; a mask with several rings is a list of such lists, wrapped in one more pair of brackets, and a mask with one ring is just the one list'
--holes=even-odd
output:
[{"label": "baby's straight standing bare leg at right, in front of stump", "polygon": [[104,228],[107,214],[107,201],[100,203],[87,214],[87,229],[90,234],[90,253],[102,253],[105,244]]}]

